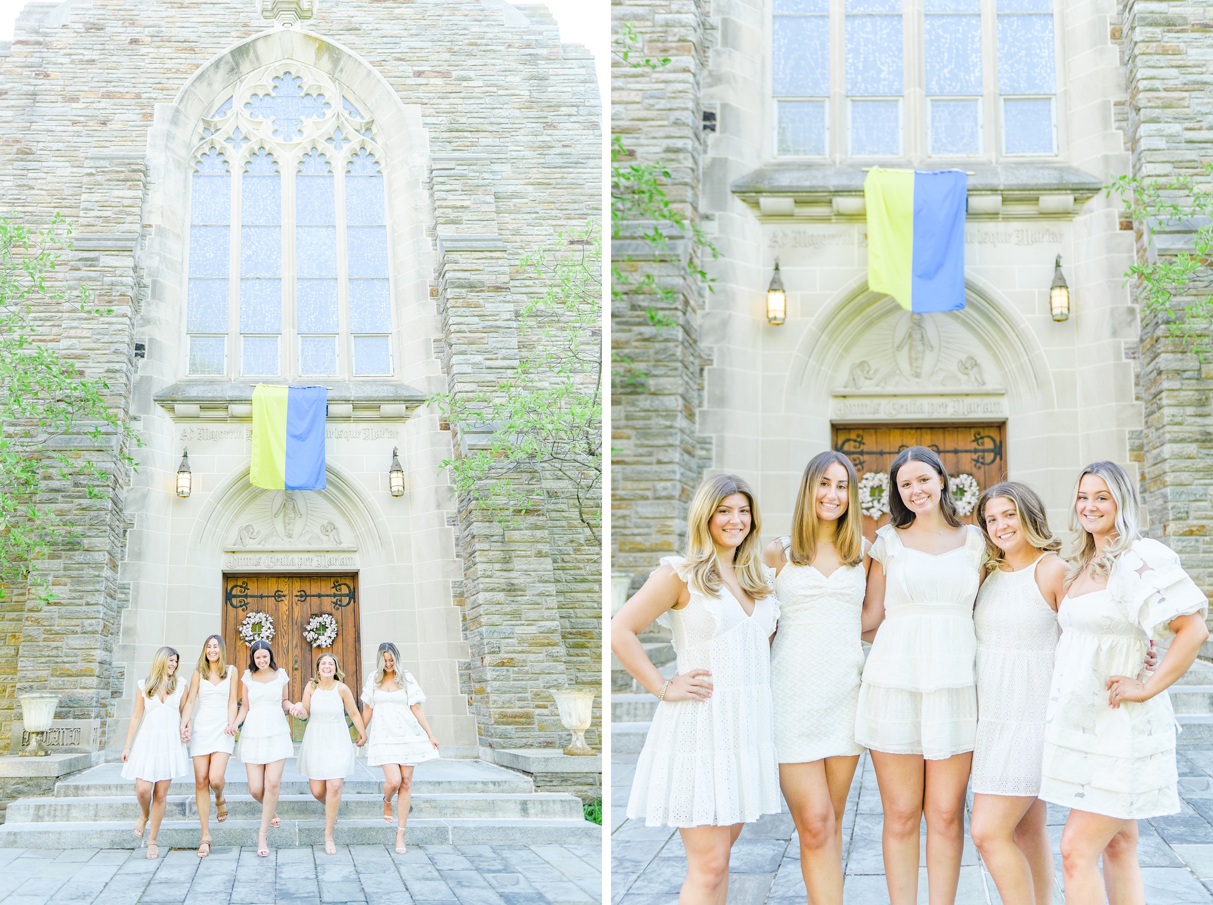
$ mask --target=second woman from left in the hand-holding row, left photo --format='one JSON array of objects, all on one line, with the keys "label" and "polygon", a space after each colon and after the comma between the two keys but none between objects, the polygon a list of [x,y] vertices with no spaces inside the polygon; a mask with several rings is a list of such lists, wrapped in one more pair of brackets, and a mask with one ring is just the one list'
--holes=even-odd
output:
[{"label": "second woman from left in the hand-holding row, left photo", "polygon": [[189,741],[189,756],[194,761],[194,801],[198,804],[198,821],[203,827],[203,841],[198,843],[199,858],[211,853],[207,823],[211,817],[212,789],[215,819],[220,823],[227,820],[223,771],[227,769],[235,745],[235,712],[239,701],[240,686],[235,681],[235,666],[227,661],[227,646],[222,636],[211,635],[203,645],[203,654],[189,678],[189,693],[181,710],[181,732]]}]

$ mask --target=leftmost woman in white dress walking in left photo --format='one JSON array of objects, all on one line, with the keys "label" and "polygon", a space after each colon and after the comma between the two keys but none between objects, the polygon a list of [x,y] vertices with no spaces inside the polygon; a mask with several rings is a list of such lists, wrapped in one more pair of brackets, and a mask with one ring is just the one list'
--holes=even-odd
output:
[{"label": "leftmost woman in white dress walking in left photo", "polygon": [[[161,647],[152,657],[148,677],[136,682],[135,712],[126,731],[123,749],[123,779],[135,780],[135,797],[143,813],[135,825],[136,838],[150,819],[147,848],[148,859],[160,857],[155,838],[164,819],[169,785],[173,779],[189,774],[189,757],[181,734],[181,711],[186,687],[177,683],[181,657],[171,647]],[[138,735],[135,733],[138,732]],[[135,739],[133,745],[131,739]]]}]

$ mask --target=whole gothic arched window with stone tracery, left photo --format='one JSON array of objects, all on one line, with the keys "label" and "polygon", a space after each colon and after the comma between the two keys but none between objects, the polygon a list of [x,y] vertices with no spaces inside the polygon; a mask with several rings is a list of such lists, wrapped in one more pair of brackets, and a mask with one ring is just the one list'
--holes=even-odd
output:
[{"label": "whole gothic arched window with stone tracery, left photo", "polygon": [[382,160],[374,121],[331,79],[294,62],[243,79],[203,119],[190,185],[189,374],[392,373]]}]

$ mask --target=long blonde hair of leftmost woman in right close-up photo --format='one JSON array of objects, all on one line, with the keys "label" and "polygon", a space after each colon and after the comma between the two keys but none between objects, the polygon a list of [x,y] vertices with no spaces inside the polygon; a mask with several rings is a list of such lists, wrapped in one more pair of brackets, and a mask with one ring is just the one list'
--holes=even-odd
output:
[{"label": "long blonde hair of leftmost woman in right close-up photo", "polygon": [[736,475],[713,475],[705,477],[695,491],[687,514],[687,563],[690,566],[690,586],[693,590],[714,597],[723,584],[721,571],[716,567],[716,542],[708,523],[725,497],[740,493],[750,504],[750,533],[733,554],[733,572],[738,577],[741,590],[754,600],[770,595],[770,585],[763,574],[762,540],[758,517],[758,504],[753,491]]}]

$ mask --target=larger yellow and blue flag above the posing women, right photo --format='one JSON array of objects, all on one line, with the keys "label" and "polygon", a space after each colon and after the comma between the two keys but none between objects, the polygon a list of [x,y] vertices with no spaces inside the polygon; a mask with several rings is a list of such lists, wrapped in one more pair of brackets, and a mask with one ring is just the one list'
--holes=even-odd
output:
[{"label": "larger yellow and blue flag above the posing women, right photo", "polygon": [[910,311],[964,308],[961,170],[879,170],[864,181],[867,286]]}]

